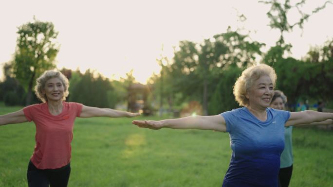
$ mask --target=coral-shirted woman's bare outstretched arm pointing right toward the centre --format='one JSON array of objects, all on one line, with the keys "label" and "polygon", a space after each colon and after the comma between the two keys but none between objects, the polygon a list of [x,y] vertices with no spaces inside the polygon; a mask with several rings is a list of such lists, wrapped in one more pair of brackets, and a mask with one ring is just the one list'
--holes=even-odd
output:
[{"label": "coral-shirted woman's bare outstretched arm pointing right toward the centre", "polygon": [[82,106],[82,111],[80,114],[81,118],[91,118],[91,117],[135,117],[139,116],[140,113],[131,113],[126,111],[114,110],[111,108],[97,108],[92,106]]}]

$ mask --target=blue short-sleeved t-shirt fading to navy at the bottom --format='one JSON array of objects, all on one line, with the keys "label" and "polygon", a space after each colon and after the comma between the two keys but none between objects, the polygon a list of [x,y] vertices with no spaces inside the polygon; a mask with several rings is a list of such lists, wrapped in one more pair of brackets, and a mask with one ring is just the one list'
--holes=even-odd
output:
[{"label": "blue short-sleeved t-shirt fading to navy at the bottom", "polygon": [[246,107],[223,112],[232,155],[222,187],[277,187],[284,124],[290,112],[267,108],[260,121]]}]

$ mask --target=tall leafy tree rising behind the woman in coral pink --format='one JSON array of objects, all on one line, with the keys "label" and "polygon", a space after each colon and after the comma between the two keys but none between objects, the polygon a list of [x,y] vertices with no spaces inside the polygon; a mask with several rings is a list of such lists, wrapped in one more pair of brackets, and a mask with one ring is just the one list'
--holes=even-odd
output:
[{"label": "tall leafy tree rising behind the woman in coral pink", "polygon": [[41,22],[34,18],[19,26],[17,48],[13,61],[13,74],[27,90],[25,104],[31,103],[32,89],[37,77],[45,70],[55,68],[59,51],[55,39],[58,32],[52,22]]}]

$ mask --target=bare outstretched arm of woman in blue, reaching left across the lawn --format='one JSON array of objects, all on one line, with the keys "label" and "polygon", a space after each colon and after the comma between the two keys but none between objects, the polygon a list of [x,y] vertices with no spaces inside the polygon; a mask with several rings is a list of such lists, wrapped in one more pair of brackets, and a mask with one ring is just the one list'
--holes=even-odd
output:
[{"label": "bare outstretched arm of woman in blue, reaching left across the lawn", "polygon": [[225,120],[221,115],[216,116],[189,116],[179,119],[133,120],[134,125],[149,129],[201,129],[226,132]]}]

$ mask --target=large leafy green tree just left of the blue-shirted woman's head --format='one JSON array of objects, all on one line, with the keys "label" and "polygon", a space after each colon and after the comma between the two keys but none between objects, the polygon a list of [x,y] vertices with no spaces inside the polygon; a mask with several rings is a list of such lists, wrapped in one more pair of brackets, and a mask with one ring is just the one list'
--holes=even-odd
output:
[{"label": "large leafy green tree just left of the blue-shirted woman's head", "polygon": [[230,28],[226,33],[214,35],[201,44],[181,41],[179,50],[174,53],[174,63],[170,66],[172,83],[177,85],[175,91],[197,100],[201,97],[203,115],[207,115],[207,103],[215,89],[215,81],[224,69],[231,64],[242,67],[254,63],[256,56],[261,55],[263,45],[251,42],[248,35]]}]

